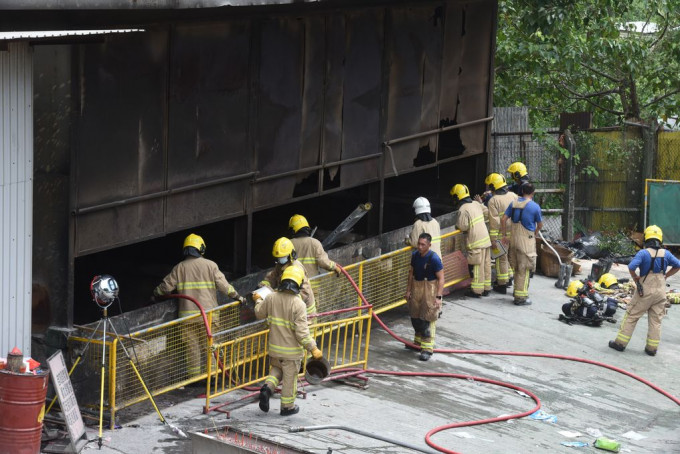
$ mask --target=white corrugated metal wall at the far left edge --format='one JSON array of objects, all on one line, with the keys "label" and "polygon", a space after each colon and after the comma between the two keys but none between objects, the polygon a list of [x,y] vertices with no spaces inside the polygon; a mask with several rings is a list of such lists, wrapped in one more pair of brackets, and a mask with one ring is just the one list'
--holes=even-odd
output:
[{"label": "white corrugated metal wall at the far left edge", "polygon": [[27,43],[0,51],[0,356],[31,353],[33,74]]}]

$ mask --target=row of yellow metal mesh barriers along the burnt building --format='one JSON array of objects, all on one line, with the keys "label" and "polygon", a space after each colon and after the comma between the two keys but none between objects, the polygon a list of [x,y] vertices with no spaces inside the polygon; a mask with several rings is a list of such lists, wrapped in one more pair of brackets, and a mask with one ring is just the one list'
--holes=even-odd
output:
[{"label": "row of yellow metal mesh barriers along the burnt building", "polygon": [[[464,241],[459,231],[442,235],[442,255],[446,286],[458,284],[469,277],[467,262],[461,250]],[[373,311],[382,313],[406,303],[404,294],[413,249],[406,247],[376,258],[347,266]],[[360,308],[360,299],[350,282],[333,273],[311,279],[316,296],[317,317],[310,329],[323,342],[324,355],[332,360],[333,368],[366,367],[370,339],[370,315]],[[338,312],[340,310],[356,309]],[[92,345],[75,369],[73,381],[91,383],[79,387],[79,402],[98,407],[102,342],[107,343],[105,407],[111,413],[111,427],[117,410],[147,399],[134,370],[126,361],[120,342],[132,355],[149,391],[154,396],[185,386],[209,375],[215,376],[211,388],[206,389],[206,409],[210,398],[225,394],[261,381],[267,373],[267,327],[264,322],[251,322],[252,311],[230,303],[206,313],[212,332],[207,336],[200,315],[171,320],[169,322],[130,333],[116,323],[121,335],[116,339],[107,333],[95,333]],[[96,325],[96,324],[94,324]],[[69,337],[69,350],[73,357],[82,352],[94,326],[81,328]],[[342,333],[353,332],[348,336]],[[360,339],[360,341],[357,339]],[[197,357],[188,355],[187,340],[195,339],[200,345]],[[358,349],[363,349],[360,352]],[[349,356],[348,356],[349,355]],[[121,360],[122,357],[122,360]],[[199,372],[192,373],[198,369]]]}]

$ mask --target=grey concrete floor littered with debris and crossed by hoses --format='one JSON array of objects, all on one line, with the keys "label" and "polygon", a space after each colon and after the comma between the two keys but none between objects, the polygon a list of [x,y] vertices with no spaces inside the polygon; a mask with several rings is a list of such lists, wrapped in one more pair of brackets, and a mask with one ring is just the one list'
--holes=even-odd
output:
[{"label": "grey concrete floor littered with debris and crossed by hoses", "polygon": [[[590,263],[584,263],[584,275]],[[618,277],[627,268],[615,265]],[[578,276],[579,278],[585,277]],[[472,300],[461,292],[445,298],[444,313],[438,322],[437,346],[465,350],[499,350],[554,353],[601,361],[638,374],[674,396],[680,396],[680,307],[669,309],[656,357],[644,354],[647,322],[638,324],[628,349],[619,353],[607,346],[618,329],[605,323],[599,328],[567,325],[557,320],[567,302],[555,279],[536,275],[531,281],[532,306],[517,307],[511,295]],[[669,280],[680,290],[680,276]],[[622,310],[616,319],[620,320]],[[383,320],[399,335],[412,336],[404,310],[385,314]],[[535,393],[542,410],[555,422],[529,417],[495,424],[448,430],[433,437],[447,449],[465,454],[489,453],[574,453],[595,452],[593,447],[573,448],[566,441],[591,443],[588,431],[599,430],[621,443],[621,452],[680,453],[680,407],[667,397],[632,378],[593,365],[545,358],[490,356],[475,354],[435,354],[421,362],[376,323],[371,334],[369,365],[372,369],[394,371],[452,372],[506,381]],[[344,425],[380,434],[435,452],[425,434],[439,425],[493,418],[530,410],[533,401],[518,392],[471,379],[420,378],[369,375],[368,389],[338,383],[307,388],[307,399],[300,399],[299,414],[281,417],[279,402],[264,414],[255,401],[232,408],[231,419],[224,414],[203,415],[203,400],[192,398],[197,390],[178,390],[157,401],[164,416],[184,431],[215,433],[214,427],[229,425],[268,439],[293,444],[312,453],[408,453],[411,449],[367,438],[343,430],[323,430],[289,434],[290,426]],[[235,392],[221,401],[234,400],[245,392]],[[190,441],[179,439],[162,426],[148,404],[139,404],[119,413],[122,429],[105,431],[102,453],[191,453]],[[625,436],[629,432],[644,438]],[[96,436],[97,427],[89,429]],[[567,432],[578,432],[571,438]],[[629,434],[630,436],[630,434]],[[97,449],[96,442],[86,450]]]}]

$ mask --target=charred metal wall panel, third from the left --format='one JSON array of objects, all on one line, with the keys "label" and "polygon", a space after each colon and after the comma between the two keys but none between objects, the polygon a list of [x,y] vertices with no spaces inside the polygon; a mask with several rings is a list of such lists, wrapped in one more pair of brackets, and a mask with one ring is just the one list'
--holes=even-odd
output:
[{"label": "charred metal wall panel, third from the left", "polygon": [[[293,171],[300,163],[304,22],[296,18],[272,18],[262,24],[255,154],[259,177]],[[296,177],[258,183],[255,208],[288,201]]]}]

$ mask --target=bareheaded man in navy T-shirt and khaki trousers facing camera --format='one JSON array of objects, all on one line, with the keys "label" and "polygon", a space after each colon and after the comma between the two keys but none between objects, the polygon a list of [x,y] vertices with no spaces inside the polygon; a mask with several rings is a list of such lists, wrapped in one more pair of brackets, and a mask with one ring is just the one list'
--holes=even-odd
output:
[{"label": "bareheaded man in navy T-shirt and khaki trousers facing camera", "polygon": [[[435,323],[442,309],[444,265],[430,249],[432,236],[421,233],[417,250],[411,254],[406,301],[415,330],[413,343],[420,347],[420,360],[427,361],[434,350]],[[407,348],[410,348],[407,346]]]}]

